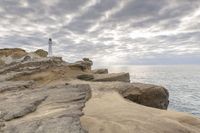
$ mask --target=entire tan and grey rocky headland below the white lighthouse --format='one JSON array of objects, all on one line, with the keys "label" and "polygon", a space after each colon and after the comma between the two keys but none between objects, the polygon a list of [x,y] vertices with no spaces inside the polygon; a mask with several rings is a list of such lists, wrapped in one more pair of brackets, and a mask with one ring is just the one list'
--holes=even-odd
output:
[{"label": "entire tan and grey rocky headland below the white lighthouse", "polygon": [[199,118],[166,110],[166,88],[46,55],[0,50],[1,133],[200,132]]}]

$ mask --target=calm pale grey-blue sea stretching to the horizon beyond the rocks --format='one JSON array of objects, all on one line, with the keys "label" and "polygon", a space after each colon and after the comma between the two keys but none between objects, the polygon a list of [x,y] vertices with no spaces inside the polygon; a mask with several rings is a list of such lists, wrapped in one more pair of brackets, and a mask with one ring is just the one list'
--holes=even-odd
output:
[{"label": "calm pale grey-blue sea stretching to the horizon beyond the rocks", "polygon": [[110,73],[129,72],[131,82],[164,86],[170,110],[200,116],[200,65],[109,66]]}]

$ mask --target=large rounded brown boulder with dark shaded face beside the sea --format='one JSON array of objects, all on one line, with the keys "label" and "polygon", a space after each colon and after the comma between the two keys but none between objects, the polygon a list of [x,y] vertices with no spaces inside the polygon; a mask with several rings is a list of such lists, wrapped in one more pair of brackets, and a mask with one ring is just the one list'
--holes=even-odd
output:
[{"label": "large rounded brown boulder with dark shaded face beside the sea", "polygon": [[169,93],[162,86],[132,83],[124,85],[119,92],[124,98],[149,107],[167,109],[169,104]]}]

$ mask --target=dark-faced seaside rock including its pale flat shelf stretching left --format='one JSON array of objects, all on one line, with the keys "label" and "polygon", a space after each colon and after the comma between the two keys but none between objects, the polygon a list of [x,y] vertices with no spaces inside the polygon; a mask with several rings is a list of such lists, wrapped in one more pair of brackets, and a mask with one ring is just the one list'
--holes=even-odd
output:
[{"label": "dark-faced seaside rock including its pale flat shelf stretching left", "polygon": [[167,109],[169,104],[169,93],[162,86],[125,82],[95,82],[91,86],[102,92],[114,90],[131,102],[152,108]]}]

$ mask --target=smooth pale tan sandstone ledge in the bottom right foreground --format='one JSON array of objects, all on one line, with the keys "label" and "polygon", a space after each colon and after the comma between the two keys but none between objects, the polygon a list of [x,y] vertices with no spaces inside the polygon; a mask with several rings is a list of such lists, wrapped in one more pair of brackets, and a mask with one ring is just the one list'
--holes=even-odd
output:
[{"label": "smooth pale tan sandstone ledge in the bottom right foreground", "polygon": [[200,119],[125,100],[116,91],[93,91],[81,123],[90,133],[200,133]]}]

